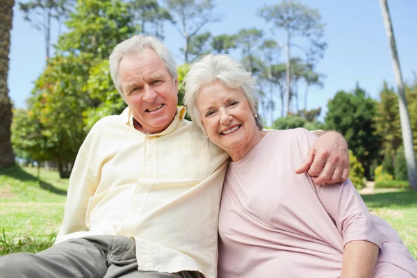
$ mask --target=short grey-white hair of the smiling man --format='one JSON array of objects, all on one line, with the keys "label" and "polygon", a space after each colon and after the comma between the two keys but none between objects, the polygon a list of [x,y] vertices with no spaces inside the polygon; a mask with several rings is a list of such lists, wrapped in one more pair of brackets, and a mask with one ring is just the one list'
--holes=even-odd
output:
[{"label": "short grey-white hair of the smiling man", "polygon": [[171,77],[173,79],[177,79],[177,66],[175,65],[175,60],[172,57],[171,52],[162,44],[162,42],[148,35],[134,35],[132,38],[117,44],[109,58],[111,78],[113,79],[113,83],[115,83],[115,87],[124,101],[126,101],[126,99],[124,98],[119,76],[120,61],[125,56],[140,55],[147,49],[155,51],[167,68],[168,72],[170,72]]}]

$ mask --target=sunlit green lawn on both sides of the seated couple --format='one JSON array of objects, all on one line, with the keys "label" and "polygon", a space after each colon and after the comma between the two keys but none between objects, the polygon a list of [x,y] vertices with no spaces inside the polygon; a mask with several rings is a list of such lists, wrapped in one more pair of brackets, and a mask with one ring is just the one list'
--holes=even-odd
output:
[{"label": "sunlit green lawn on both sides of the seated couple", "polygon": [[[56,171],[13,167],[0,172],[0,256],[38,252],[54,243],[68,180]],[[370,211],[398,231],[417,258],[417,192],[376,189],[362,195]]]}]

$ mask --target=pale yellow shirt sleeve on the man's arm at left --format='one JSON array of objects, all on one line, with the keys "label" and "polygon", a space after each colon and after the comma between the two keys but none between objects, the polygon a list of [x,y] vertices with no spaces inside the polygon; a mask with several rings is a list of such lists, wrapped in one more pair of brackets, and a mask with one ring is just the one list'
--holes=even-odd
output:
[{"label": "pale yellow shirt sleeve on the man's arm at left", "polygon": [[98,185],[97,174],[92,170],[93,163],[90,158],[93,145],[91,141],[95,137],[92,134],[93,129],[81,145],[72,168],[63,224],[56,236],[55,244],[66,240],[70,234],[88,231],[85,225],[88,200],[94,195]]}]

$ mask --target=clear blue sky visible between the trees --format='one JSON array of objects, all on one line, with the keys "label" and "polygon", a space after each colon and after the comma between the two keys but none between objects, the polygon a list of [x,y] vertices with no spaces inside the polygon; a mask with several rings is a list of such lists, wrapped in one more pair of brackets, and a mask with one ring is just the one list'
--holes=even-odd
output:
[{"label": "clear blue sky visible between the trees", "polygon": [[[255,12],[263,5],[277,2],[218,0],[216,10],[222,20],[207,25],[206,30],[213,35],[220,35],[237,33],[240,28],[256,27],[263,28],[268,33],[271,26],[257,17]],[[321,106],[325,109],[327,101],[338,90],[352,90],[357,82],[375,99],[382,88],[383,80],[395,85],[391,53],[378,0],[301,2],[320,11],[326,23],[325,41],[328,43],[325,57],[317,68],[327,78],[322,89],[313,87],[309,90],[309,108]],[[404,81],[413,81],[414,71],[417,72],[417,1],[389,0],[389,8]],[[15,107],[24,108],[25,99],[33,89],[33,81],[38,78],[45,65],[44,38],[40,31],[23,20],[17,5],[14,11],[8,86]],[[53,26],[54,42],[57,36],[58,27]],[[284,33],[278,32],[272,38],[284,42],[285,37]],[[169,24],[165,26],[165,44],[176,56],[177,63],[182,63],[179,48],[183,45],[183,40]],[[300,103],[303,104],[303,100]]]}]

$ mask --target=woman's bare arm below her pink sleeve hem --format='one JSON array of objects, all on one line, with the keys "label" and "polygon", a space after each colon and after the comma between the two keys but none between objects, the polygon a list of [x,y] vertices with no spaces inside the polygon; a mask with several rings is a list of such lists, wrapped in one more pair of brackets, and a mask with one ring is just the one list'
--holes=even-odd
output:
[{"label": "woman's bare arm below her pink sleeve hem", "polygon": [[346,243],[343,252],[342,278],[373,277],[379,247],[366,240]]}]

